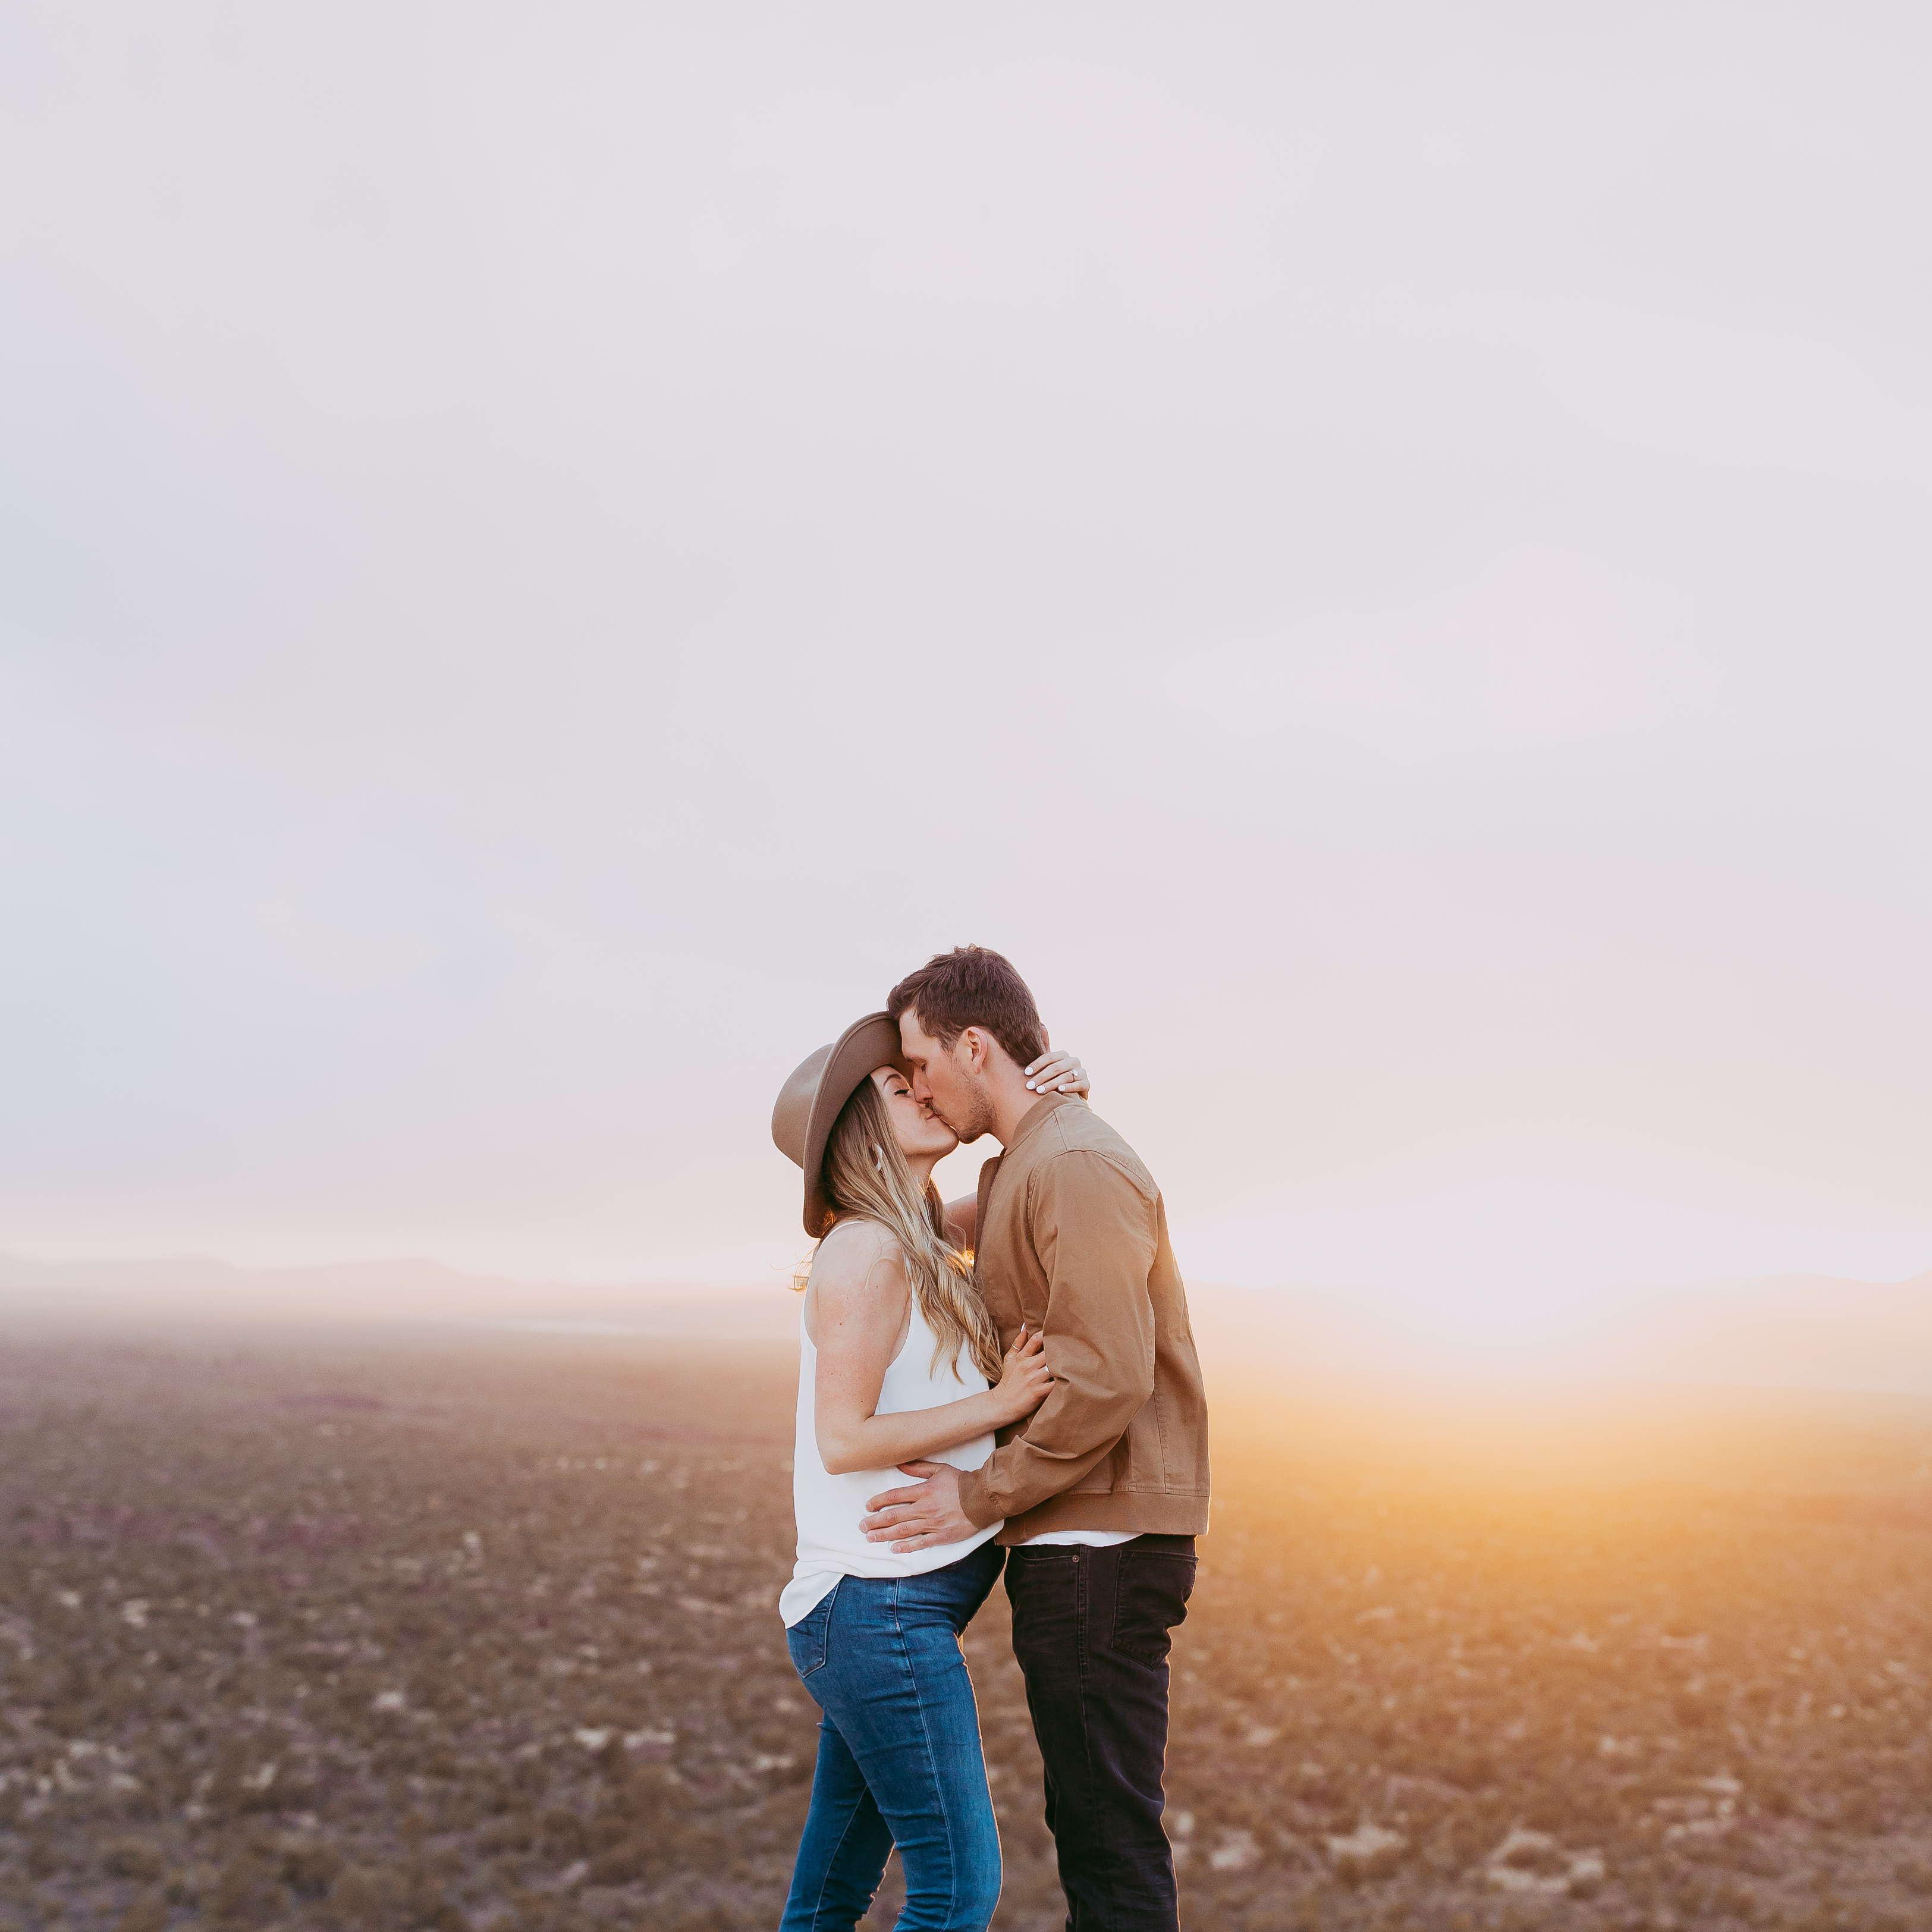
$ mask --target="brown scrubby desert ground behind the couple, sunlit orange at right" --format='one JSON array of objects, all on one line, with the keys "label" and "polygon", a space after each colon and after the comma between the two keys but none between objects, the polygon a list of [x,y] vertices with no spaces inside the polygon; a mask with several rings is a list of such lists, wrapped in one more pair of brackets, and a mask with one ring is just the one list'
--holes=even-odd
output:
[{"label": "brown scrubby desert ground behind the couple, sunlit orange at right", "polygon": [[[0,1924],[775,1926],[815,1721],[790,1376],[0,1337]],[[1211,1393],[1188,1926],[1932,1926],[1932,1403]],[[1047,1932],[999,1592],[968,1652],[997,1924]]]}]

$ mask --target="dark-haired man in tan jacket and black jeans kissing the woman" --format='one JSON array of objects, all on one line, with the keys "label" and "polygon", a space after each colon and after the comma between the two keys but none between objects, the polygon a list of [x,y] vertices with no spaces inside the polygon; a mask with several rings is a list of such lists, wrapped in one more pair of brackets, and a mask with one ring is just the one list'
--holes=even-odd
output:
[{"label": "dark-haired man in tan jacket and black jeans kissing the woman", "polygon": [[1167,1652],[1208,1528],[1208,1410],[1161,1192],[1084,1101],[1028,1086],[1047,1034],[997,952],[939,954],[887,1012],[914,1097],[1005,1150],[980,1173],[974,1271],[1003,1347],[1045,1335],[1053,1391],[983,1468],[904,1464],[923,1480],[873,1497],[866,1530],[918,1549],[1005,1519],[1068,1932],[1177,1932]]}]

